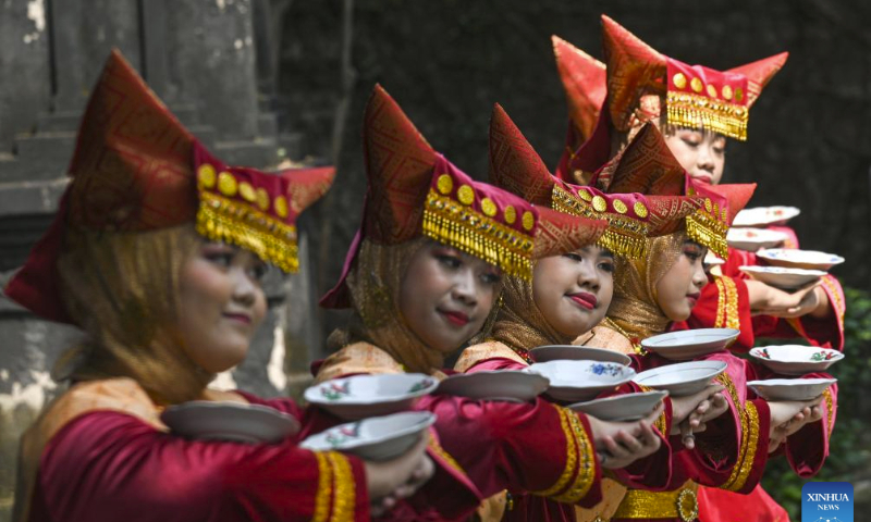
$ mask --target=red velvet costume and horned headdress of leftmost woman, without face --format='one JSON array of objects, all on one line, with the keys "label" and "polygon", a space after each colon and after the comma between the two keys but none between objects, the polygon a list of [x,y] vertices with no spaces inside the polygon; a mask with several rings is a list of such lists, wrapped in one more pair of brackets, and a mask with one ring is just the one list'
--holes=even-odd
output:
[{"label": "red velvet costume and horned headdress of leftmost woman, without face", "polygon": [[[205,388],[210,375],[188,363],[183,366],[180,361],[187,359],[174,356],[177,343],[157,345],[162,337],[155,335],[162,323],[154,331],[137,330],[151,325],[150,312],[162,310],[163,301],[175,297],[167,296],[165,289],[135,290],[140,294],[128,289],[146,285],[137,276],[149,266],[136,269],[142,273],[112,272],[113,265],[139,266],[142,252],[131,253],[137,252],[134,246],[156,237],[193,236],[194,223],[210,240],[237,245],[294,271],[296,217],[329,188],[333,170],[272,175],[224,165],[115,51],[85,112],[70,175],[54,222],[5,291],[34,313],[95,335],[99,344],[84,353],[84,363],[102,357],[105,365],[90,374],[82,373],[82,364],[76,366],[77,382],[23,435],[14,520],[368,520],[363,462],[355,457],[302,450],[294,439],[247,445],[187,440],[169,433],[159,419],[163,407],[175,401],[169,397],[262,401]],[[77,272],[78,281],[86,281],[83,277],[101,271],[98,263],[108,263],[102,284],[86,288],[95,300],[123,297],[122,308],[106,316],[83,315],[81,308],[70,308],[70,302],[78,301],[71,301],[61,261],[73,247],[86,245],[119,246],[109,250],[115,252],[114,259],[84,261],[89,265]],[[171,270],[155,273],[152,286],[168,288],[173,277]],[[132,283],[124,286],[125,279]],[[135,324],[130,328],[116,327],[116,315],[128,310],[142,313],[131,315]],[[112,357],[126,357],[126,365],[112,365],[118,359],[106,355],[107,343],[114,350]],[[157,352],[162,356],[152,355],[157,349],[163,349]],[[175,359],[165,359],[169,356]],[[146,363],[151,370],[140,371]],[[112,368],[118,373],[107,374],[105,370]],[[158,371],[170,378],[149,380]],[[169,389],[155,383],[193,386]],[[300,414],[291,401],[269,405]]]}]

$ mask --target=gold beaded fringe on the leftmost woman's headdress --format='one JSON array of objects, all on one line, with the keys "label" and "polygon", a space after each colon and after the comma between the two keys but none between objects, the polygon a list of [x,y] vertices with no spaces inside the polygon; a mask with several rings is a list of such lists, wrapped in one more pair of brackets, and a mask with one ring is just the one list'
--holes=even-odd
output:
[{"label": "gold beaded fringe on the leftmost woman's headdress", "polygon": [[247,203],[200,190],[197,233],[250,250],[284,272],[299,270],[296,227]]}]

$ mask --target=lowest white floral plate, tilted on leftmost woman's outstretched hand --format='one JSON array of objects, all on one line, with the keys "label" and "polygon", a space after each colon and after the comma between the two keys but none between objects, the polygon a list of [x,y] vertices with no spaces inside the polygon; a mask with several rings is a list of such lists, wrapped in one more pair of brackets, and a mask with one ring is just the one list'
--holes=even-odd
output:
[{"label": "lowest white floral plate, tilted on leftmost woman's outstretched hand", "polygon": [[405,411],[340,424],[311,435],[299,447],[312,451],[346,451],[366,460],[390,460],[408,450],[436,422],[429,411]]}]

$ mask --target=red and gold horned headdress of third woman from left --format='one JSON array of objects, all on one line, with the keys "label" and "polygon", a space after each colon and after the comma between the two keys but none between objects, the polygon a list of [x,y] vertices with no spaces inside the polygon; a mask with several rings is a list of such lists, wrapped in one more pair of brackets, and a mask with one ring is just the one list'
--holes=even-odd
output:
[{"label": "red and gold horned headdress of third woman from left", "polygon": [[[634,159],[634,154],[629,159]],[[616,161],[610,176],[617,179],[654,178],[660,174],[633,170],[639,166],[629,161]],[[643,257],[648,237],[674,232],[682,226],[684,217],[702,204],[699,198],[680,196],[683,179],[678,184],[661,181],[657,192],[606,192],[591,186],[565,183],[548,172],[544,162],[499,104],[490,120],[490,179],[535,204],[572,215],[608,220],[609,227],[598,244],[628,258]]]}]

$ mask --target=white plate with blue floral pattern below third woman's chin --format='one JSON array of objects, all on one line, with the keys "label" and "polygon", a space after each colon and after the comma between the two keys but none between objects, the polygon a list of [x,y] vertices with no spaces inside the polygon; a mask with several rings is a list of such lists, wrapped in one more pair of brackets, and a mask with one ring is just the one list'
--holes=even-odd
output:
[{"label": "white plate with blue floral pattern below third woman's chin", "polygon": [[549,361],[531,364],[525,371],[550,380],[548,395],[564,402],[593,399],[608,389],[628,383],[635,370],[616,362]]}]

